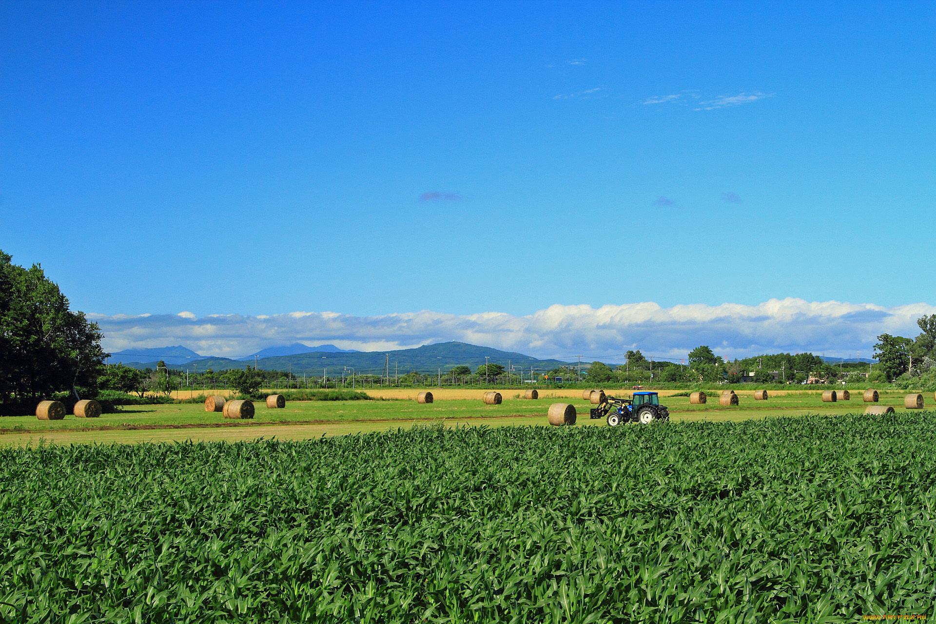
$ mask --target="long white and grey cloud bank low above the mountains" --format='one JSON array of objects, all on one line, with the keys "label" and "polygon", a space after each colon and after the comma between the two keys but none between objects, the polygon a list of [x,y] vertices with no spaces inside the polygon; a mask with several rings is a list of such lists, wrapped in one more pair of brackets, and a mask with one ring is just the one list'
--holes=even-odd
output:
[{"label": "long white and grey cloud bank low above the mountains", "polygon": [[103,329],[109,351],[184,344],[203,355],[236,357],[266,347],[330,342],[343,349],[381,351],[462,341],[536,357],[607,361],[628,349],[685,357],[699,344],[720,356],[812,351],[826,356],[869,357],[881,333],[915,336],[915,320],[936,313],[924,303],[885,308],[870,303],[770,299],[749,306],[724,303],[677,305],[627,303],[592,308],[552,305],[527,316],[502,312],[446,314],[406,312],[352,316],[338,312],[290,312],[241,316],[89,314]]}]

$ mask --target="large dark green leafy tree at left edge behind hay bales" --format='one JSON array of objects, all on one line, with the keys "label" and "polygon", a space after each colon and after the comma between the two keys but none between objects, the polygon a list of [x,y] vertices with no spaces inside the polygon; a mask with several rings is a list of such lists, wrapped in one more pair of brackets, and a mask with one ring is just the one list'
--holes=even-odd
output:
[{"label": "large dark green leafy tree at left edge behind hay bales", "polygon": [[0,251],[0,400],[95,388],[102,338],[39,265],[22,268]]}]

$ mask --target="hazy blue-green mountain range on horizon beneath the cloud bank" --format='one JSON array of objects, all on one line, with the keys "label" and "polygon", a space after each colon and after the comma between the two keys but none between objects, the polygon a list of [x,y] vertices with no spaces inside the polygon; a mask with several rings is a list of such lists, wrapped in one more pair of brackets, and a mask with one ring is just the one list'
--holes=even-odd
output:
[{"label": "hazy blue-green mountain range on horizon beneath the cloud bank", "polygon": [[[288,347],[274,348],[291,349],[295,347],[296,344],[289,345]],[[302,346],[304,347],[305,345]],[[334,345],[323,346],[337,349]],[[194,354],[195,357],[179,361],[183,358],[178,357],[176,352],[170,354],[167,350],[171,349],[185,348],[165,347],[163,349],[127,350],[122,354],[113,354],[110,361],[122,361],[126,366],[137,369],[152,368],[151,365],[160,359],[164,360],[170,369],[177,370],[211,369],[220,371],[242,369],[249,366],[244,359],[198,356],[194,351],[188,349],[185,349],[185,351]],[[389,355],[390,374],[396,374],[399,370],[401,375],[411,370],[418,370],[424,373],[442,372],[445,374],[447,370],[461,365],[468,366],[474,371],[488,360],[490,360],[491,364],[500,364],[505,368],[508,365],[512,365],[515,370],[522,369],[529,371],[530,368],[533,367],[538,372],[545,372],[570,364],[569,362],[563,362],[558,359],[537,359],[520,353],[512,353],[499,349],[492,349],[490,347],[454,341],[426,344],[416,349],[398,349],[395,351],[327,350],[284,356],[260,356],[260,353],[262,352],[257,352],[256,364],[257,368],[261,370],[290,370],[291,368],[293,374],[314,376],[321,376],[323,370],[328,370],[330,377],[341,376],[345,368],[348,370],[354,369],[358,374],[380,374],[384,370],[384,364],[387,362],[387,354]],[[132,356],[130,354],[143,354],[143,356]],[[134,359],[128,359],[130,357]],[[486,358],[488,358],[488,360],[486,360]],[[141,359],[144,361],[139,361]],[[170,359],[174,361],[170,361]],[[251,356],[250,360],[252,360],[250,364],[253,364],[254,357]]]}]

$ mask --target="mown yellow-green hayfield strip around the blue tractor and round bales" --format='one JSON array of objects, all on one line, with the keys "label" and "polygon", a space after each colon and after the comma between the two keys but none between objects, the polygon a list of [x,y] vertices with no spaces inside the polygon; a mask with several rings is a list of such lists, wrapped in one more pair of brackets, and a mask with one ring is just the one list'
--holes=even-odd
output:
[{"label": "mown yellow-green hayfield strip around the blue tractor and round bales", "polygon": [[[37,443],[160,442],[192,440],[248,440],[257,437],[305,440],[321,435],[344,435],[414,424],[444,423],[456,426],[519,426],[544,424],[550,403],[571,402],[578,411],[578,426],[603,426],[604,420],[590,420],[593,407],[581,399],[581,390],[559,390],[563,396],[537,400],[519,399],[519,392],[504,393],[501,405],[485,405],[478,390],[438,391],[431,404],[407,399],[408,389],[388,389],[389,400],[288,401],[280,410],[267,409],[256,401],[256,417],[228,420],[219,413],[206,413],[199,404],[126,406],[117,414],[83,419],[67,415],[64,420],[42,421],[35,415],[0,418],[0,445]],[[663,391],[661,394],[665,394]],[[669,391],[670,394],[678,391]],[[374,393],[377,394],[377,393]],[[415,393],[413,398],[415,399]],[[623,393],[622,393],[623,394]],[[572,395],[572,396],[570,396]],[[765,416],[805,414],[860,414],[868,405],[860,399],[823,403],[815,391],[772,395],[766,401],[751,393],[739,395],[737,407],[722,407],[718,397],[705,405],[691,405],[688,397],[662,397],[674,421],[738,421]],[[903,411],[903,395],[882,393],[878,404],[893,405]],[[929,401],[932,402],[932,401]]]}]

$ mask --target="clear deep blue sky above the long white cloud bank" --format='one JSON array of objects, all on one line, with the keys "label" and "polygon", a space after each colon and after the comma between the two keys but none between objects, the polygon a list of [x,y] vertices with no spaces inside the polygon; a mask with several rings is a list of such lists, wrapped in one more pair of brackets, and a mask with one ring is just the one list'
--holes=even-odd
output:
[{"label": "clear deep blue sky above the long white cloud bank", "polygon": [[933,303],[936,5],[763,4],[7,5],[0,249],[102,319]]}]

